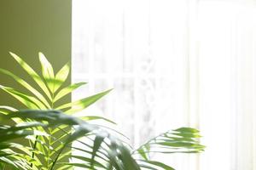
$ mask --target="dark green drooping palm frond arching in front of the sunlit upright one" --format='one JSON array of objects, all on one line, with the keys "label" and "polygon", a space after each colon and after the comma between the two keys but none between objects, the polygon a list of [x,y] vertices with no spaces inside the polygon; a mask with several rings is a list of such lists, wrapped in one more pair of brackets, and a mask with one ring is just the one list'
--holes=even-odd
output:
[{"label": "dark green drooping palm frond arching in front of the sunlit upright one", "polygon": [[[79,156],[73,156],[79,159],[80,161],[84,161],[84,166],[88,165],[90,168],[94,169],[96,167],[114,167],[116,170],[125,170],[125,169],[140,169],[132,156],[130,150],[126,148],[126,146],[112,134],[108,133],[106,130],[97,127],[96,125],[89,124],[84,122],[83,120],[63,114],[61,111],[38,111],[38,110],[27,110],[27,111],[15,111],[9,112],[7,115],[2,115],[3,118],[20,118],[22,120],[32,120],[36,122],[44,122],[44,124],[31,124],[26,125],[25,127],[33,127],[43,126],[43,127],[58,127],[60,125],[69,125],[75,126],[73,128],[72,133],[69,133],[67,139],[63,140],[59,146],[59,148],[55,149],[55,159],[51,162],[50,169],[54,169],[56,164],[65,164],[65,165],[73,165],[79,166],[79,163],[64,163],[58,162],[61,156],[65,156],[67,153],[62,153],[62,151],[69,147],[73,141],[79,140],[84,137],[86,139],[90,139],[91,136],[95,136],[95,139],[92,139],[91,144],[84,144],[85,153],[90,153],[90,157],[87,159],[84,157],[81,159]],[[46,124],[45,124],[46,123]],[[77,127],[78,126],[78,127]],[[24,127],[24,128],[25,128]],[[18,127],[12,127],[15,131]],[[19,127],[21,128],[21,127]],[[30,133],[25,133],[26,135],[32,135]],[[4,137],[6,138],[6,137]],[[1,141],[0,141],[1,142]],[[81,151],[81,150],[80,150]],[[100,154],[103,154],[105,157],[105,161],[99,163],[97,161],[101,158]],[[63,155],[62,155],[63,154]],[[128,168],[127,168],[128,167]]]}]

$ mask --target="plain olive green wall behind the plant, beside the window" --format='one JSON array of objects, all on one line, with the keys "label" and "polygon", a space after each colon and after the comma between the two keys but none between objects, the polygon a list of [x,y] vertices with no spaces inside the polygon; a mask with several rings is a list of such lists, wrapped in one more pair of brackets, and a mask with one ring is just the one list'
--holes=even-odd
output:
[{"label": "plain olive green wall behind the plant, beside the window", "polygon": [[[1,0],[0,67],[26,77],[26,72],[9,51],[26,60],[38,72],[41,71],[38,61],[41,51],[55,70],[59,70],[71,60],[71,0]],[[1,74],[0,84],[19,88],[14,80]],[[0,105],[24,108],[3,91],[0,91]]]}]

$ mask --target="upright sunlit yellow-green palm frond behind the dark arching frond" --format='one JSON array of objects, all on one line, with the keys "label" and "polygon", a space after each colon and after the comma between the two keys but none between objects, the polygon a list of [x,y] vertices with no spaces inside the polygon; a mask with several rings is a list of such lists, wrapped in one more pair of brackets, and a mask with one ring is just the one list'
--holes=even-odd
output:
[{"label": "upright sunlit yellow-green palm frond behind the dark arching frond", "polygon": [[[20,92],[17,89],[6,87],[3,85],[0,85],[0,88],[2,88],[5,92],[15,97],[15,99],[18,99],[23,105],[25,105],[28,109],[38,109],[38,110],[60,110],[65,111],[67,114],[73,114],[77,111],[82,111],[87,106],[93,104],[96,102],[97,99],[101,99],[102,96],[105,94],[108,94],[108,91],[102,92],[100,94],[92,95],[90,97],[86,97],[84,99],[79,99],[74,102],[70,102],[67,104],[57,105],[57,101],[64,98],[67,94],[71,94],[73,90],[76,88],[81,87],[82,85],[86,84],[85,82],[79,82],[71,84],[67,87],[62,88],[61,85],[63,82],[67,81],[67,77],[70,71],[70,63],[68,62],[66,65],[64,65],[60,71],[58,71],[55,74],[55,71],[52,67],[52,65],[49,63],[48,59],[45,58],[44,54],[39,53],[39,61],[42,65],[42,77],[38,75],[36,71],[32,69],[30,65],[28,65],[23,59],[21,59],[16,54],[10,53],[11,56],[15,59],[15,61],[18,62],[18,64],[23,68],[30,77],[32,77],[32,80],[38,84],[38,88],[32,87],[29,83],[27,83],[22,78],[16,76],[11,71],[7,71],[4,69],[0,69],[0,71],[8,75],[9,77],[12,77],[16,82],[20,83],[20,85],[23,88],[26,88],[28,93]],[[41,90],[43,93],[40,93],[39,90]],[[45,97],[44,97],[45,96]],[[99,119],[102,117],[99,116],[84,116],[84,119],[90,120],[90,119]],[[64,133],[59,130],[55,129],[54,131],[49,130],[49,137],[37,137],[37,139],[40,139],[44,141],[44,144],[51,145],[58,145],[58,142],[55,142],[54,139],[52,139],[55,135],[61,136],[64,135]],[[68,130],[68,129],[66,129]],[[70,130],[70,129],[69,129]],[[32,142],[32,141],[31,141]],[[47,147],[40,146],[41,144],[38,142],[34,143],[33,147],[38,147],[41,152],[45,153],[45,156],[41,156],[41,164],[44,165],[44,167],[40,167],[42,169],[48,170],[51,164],[53,163],[52,156],[55,155],[55,151],[49,150]],[[34,156],[37,156],[38,154],[35,153]]]}]

